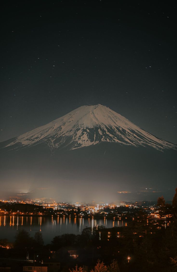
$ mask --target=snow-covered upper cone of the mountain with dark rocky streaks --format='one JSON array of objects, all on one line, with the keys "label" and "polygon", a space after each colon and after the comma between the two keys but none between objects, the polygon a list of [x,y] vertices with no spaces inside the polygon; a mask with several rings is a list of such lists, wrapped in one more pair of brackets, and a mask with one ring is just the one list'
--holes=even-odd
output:
[{"label": "snow-covered upper cone of the mountain with dark rocky streaks", "polygon": [[175,144],[155,137],[100,104],[81,106],[44,126],[9,140],[4,147],[18,149],[46,143],[54,151],[59,147],[77,149],[104,141],[135,147],[151,146],[158,150],[177,149]]}]

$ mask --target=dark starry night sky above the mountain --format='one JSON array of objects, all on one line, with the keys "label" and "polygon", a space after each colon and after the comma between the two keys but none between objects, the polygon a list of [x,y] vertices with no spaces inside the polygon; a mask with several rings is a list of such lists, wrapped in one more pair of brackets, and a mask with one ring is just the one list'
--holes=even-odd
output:
[{"label": "dark starry night sky above the mountain", "polygon": [[176,8],[116,2],[4,3],[0,141],[100,103],[177,143]]}]

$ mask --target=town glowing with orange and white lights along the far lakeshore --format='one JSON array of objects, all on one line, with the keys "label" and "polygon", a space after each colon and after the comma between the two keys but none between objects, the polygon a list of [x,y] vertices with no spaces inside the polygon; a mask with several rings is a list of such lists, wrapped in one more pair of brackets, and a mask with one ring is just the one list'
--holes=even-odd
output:
[{"label": "town glowing with orange and white lights along the far lakeshore", "polygon": [[[25,205],[28,204],[28,205]],[[94,205],[95,204],[95,205]],[[119,204],[96,204],[96,203],[58,203],[55,201],[34,200],[0,200],[0,214],[6,215],[42,215],[59,217],[93,217],[109,218],[116,220],[131,220],[133,215],[140,209],[144,210],[151,218],[159,218],[155,204],[151,202],[139,201],[136,203],[121,202]],[[28,206],[26,211],[25,206]],[[40,210],[40,211],[39,211]]]}]

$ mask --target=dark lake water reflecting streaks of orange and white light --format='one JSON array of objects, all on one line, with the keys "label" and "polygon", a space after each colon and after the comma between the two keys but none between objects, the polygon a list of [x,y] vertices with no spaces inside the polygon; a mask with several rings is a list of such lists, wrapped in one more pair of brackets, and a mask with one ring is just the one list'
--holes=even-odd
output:
[{"label": "dark lake water reflecting streaks of orange and white light", "polygon": [[53,237],[64,233],[81,234],[85,227],[96,227],[103,225],[106,228],[125,226],[126,222],[118,220],[92,218],[46,218],[46,217],[27,217],[27,216],[0,216],[0,239],[7,238],[10,242],[14,242],[18,230],[26,230],[30,236],[34,237],[35,232],[41,231],[44,244],[51,242]]}]

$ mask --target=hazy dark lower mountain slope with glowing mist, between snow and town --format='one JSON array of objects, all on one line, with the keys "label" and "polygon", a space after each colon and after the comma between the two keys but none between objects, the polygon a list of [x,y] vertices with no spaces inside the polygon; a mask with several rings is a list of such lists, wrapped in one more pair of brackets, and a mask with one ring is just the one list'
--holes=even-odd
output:
[{"label": "hazy dark lower mountain slope with glowing mist, between snow and town", "polygon": [[106,203],[156,200],[162,194],[170,200],[175,191],[175,150],[100,143],[54,154],[45,144],[2,151],[1,198],[13,191],[30,192],[31,198]]}]

